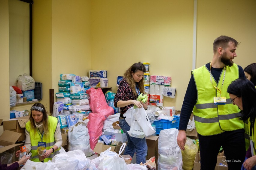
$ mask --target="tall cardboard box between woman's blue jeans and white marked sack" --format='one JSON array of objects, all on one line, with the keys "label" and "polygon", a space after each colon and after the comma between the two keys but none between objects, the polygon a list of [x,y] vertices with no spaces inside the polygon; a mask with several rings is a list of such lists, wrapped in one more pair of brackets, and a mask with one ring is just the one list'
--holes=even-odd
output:
[{"label": "tall cardboard box between woman's blue jeans and white marked sack", "polygon": [[157,160],[158,160],[158,136],[149,136],[146,137],[146,142],[148,145],[148,154],[146,156],[146,160],[149,160],[151,157],[156,157],[156,168],[157,168]]}]

